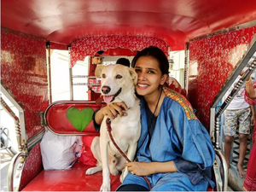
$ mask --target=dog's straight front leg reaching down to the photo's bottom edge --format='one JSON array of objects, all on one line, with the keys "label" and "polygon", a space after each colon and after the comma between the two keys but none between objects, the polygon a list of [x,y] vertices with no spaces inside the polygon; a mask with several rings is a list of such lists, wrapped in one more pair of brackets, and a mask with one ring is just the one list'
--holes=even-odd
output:
[{"label": "dog's straight front leg reaching down to the photo's bottom edge", "polygon": [[[101,131],[102,134],[102,131]],[[110,191],[110,176],[108,169],[108,140],[105,134],[101,135],[100,146],[101,146],[101,155],[102,155],[102,187],[101,191]],[[103,137],[103,138],[102,138]]]}]

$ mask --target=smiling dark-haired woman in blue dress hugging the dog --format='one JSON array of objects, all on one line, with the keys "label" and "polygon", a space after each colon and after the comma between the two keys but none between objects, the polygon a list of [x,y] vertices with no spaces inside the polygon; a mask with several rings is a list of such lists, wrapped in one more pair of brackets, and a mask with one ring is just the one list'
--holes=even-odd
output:
[{"label": "smiling dark-haired woman in blue dress hugging the dog", "polygon": [[[213,188],[211,169],[215,153],[211,139],[189,102],[164,87],[169,73],[165,53],[157,47],[143,49],[134,57],[132,67],[137,73],[142,131],[137,161],[125,163],[129,174],[117,190],[197,191],[207,190],[208,185]],[[102,124],[101,134],[105,125],[103,118],[109,117],[115,122],[126,117],[124,111],[129,116],[129,101],[113,102],[94,116],[95,125]]]}]

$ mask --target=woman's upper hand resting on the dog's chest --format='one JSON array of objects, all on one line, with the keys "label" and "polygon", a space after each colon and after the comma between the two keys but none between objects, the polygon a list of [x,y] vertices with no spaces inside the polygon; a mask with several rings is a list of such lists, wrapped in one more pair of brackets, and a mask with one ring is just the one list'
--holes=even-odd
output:
[{"label": "woman's upper hand resting on the dog's chest", "polygon": [[112,102],[108,103],[108,105],[102,108],[99,112],[102,113],[103,116],[108,115],[110,119],[115,119],[118,115],[121,117],[127,116],[127,113],[125,113],[127,109],[125,102]]}]

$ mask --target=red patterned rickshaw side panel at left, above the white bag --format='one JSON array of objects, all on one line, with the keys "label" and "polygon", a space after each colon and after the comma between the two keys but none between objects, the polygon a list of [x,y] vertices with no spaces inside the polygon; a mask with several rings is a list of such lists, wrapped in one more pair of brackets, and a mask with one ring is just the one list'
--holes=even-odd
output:
[{"label": "red patterned rickshaw side panel at left, above the white bag", "polygon": [[25,109],[27,138],[44,129],[39,116],[49,104],[44,39],[1,28],[1,79]]}]

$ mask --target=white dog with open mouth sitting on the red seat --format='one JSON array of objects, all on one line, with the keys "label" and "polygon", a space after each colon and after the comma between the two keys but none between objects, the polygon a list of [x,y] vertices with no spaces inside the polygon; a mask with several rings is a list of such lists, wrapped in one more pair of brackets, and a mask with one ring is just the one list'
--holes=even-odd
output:
[{"label": "white dog with open mouth sitting on the red seat", "polygon": [[[133,68],[122,65],[97,66],[96,76],[102,77],[102,96],[105,102],[125,102],[128,115],[111,120],[112,135],[115,143],[126,154],[129,160],[134,160],[137,141],[141,133],[139,99],[135,96],[137,73]],[[86,174],[102,171],[101,191],[110,191],[109,173],[118,175],[122,171],[120,181],[123,182],[128,173],[125,168],[125,158],[113,145],[107,131],[105,116],[100,131],[100,137],[95,137],[91,151],[97,160],[97,166],[90,168]],[[100,143],[100,144],[99,144]],[[125,168],[125,169],[124,169]]]}]

